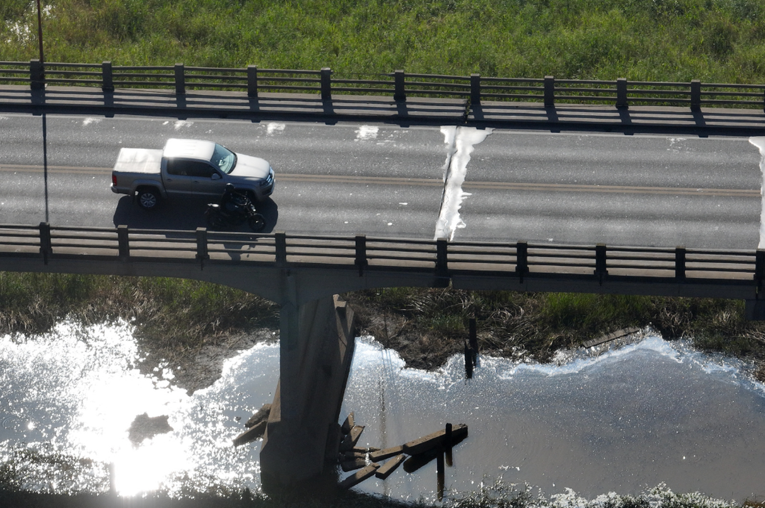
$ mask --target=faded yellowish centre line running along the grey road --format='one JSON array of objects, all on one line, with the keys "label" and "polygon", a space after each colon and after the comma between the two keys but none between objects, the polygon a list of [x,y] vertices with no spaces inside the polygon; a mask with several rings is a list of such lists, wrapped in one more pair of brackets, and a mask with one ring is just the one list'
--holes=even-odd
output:
[{"label": "faded yellowish centre line running along the grey road", "polygon": [[[0,164],[3,172],[43,173],[42,166]],[[80,168],[76,166],[48,166],[48,173],[111,174],[112,168]],[[276,181],[325,184],[400,185],[402,187],[444,187],[444,181],[435,178],[362,177],[343,174],[285,174],[277,173]],[[761,197],[760,189],[713,189],[693,187],[637,187],[629,185],[593,184],[537,184],[500,181],[465,181],[466,189],[496,191],[542,192],[594,192],[616,194],[670,194],[675,196]]]}]

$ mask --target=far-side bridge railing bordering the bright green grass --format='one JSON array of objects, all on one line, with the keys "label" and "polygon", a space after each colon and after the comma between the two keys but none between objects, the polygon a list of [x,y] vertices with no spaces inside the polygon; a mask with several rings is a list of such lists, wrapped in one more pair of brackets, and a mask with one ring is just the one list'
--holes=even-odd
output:
[{"label": "far-side bridge railing bordering the bright green grass", "polygon": [[250,97],[261,92],[319,93],[329,100],[333,94],[407,97],[464,98],[470,106],[483,100],[539,102],[545,107],[556,103],[685,106],[698,111],[702,106],[757,107],[765,109],[765,84],[667,83],[656,81],[560,80],[544,78],[500,78],[443,76],[436,74],[392,73],[373,76],[333,77],[330,68],[321,70],[187,67],[113,66],[102,63],[57,63],[0,61],[0,83],[28,84],[32,90],[44,90],[47,84],[100,86],[105,92],[116,88],[170,88],[183,94],[188,89],[246,90]]}]

